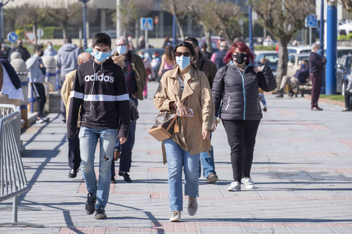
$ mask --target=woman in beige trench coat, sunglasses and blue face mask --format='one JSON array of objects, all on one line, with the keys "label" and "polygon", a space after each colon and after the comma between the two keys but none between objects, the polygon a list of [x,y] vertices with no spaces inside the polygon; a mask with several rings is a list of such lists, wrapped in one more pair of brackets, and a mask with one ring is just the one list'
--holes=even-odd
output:
[{"label": "woman in beige trench coat, sunglasses and blue face mask", "polygon": [[[162,143],[164,163],[168,162],[171,222],[181,220],[182,168],[184,195],[188,195],[188,214],[198,209],[199,157],[210,151],[210,132],[214,131],[214,102],[206,75],[192,65],[194,47],[181,42],[174,49],[175,69],[165,72],[154,96],[159,111],[180,111],[178,132]],[[193,115],[190,109],[193,109]],[[166,160],[165,160],[166,159]]]}]

